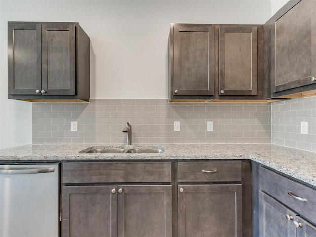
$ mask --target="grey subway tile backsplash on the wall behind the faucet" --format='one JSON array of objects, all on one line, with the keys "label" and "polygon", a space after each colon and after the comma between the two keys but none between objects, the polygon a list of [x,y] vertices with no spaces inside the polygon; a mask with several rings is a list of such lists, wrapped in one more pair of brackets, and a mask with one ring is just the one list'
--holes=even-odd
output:
[{"label": "grey subway tile backsplash on the wall behind the faucet", "polygon": [[[279,120],[271,119],[271,104],[261,103],[169,103],[164,99],[33,103],[32,142],[123,144],[122,129],[129,122],[133,143],[270,143],[271,123]],[[70,132],[71,121],[78,122],[78,132]],[[173,131],[174,121],[180,121],[180,132]],[[206,131],[207,121],[214,122],[213,132]]]}]

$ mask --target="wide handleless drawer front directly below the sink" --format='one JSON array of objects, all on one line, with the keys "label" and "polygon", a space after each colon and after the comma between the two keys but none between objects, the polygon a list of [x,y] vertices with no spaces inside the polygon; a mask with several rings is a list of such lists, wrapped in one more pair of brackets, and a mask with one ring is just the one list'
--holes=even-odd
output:
[{"label": "wide handleless drawer front directly below the sink", "polygon": [[171,182],[171,162],[63,163],[62,182]]}]

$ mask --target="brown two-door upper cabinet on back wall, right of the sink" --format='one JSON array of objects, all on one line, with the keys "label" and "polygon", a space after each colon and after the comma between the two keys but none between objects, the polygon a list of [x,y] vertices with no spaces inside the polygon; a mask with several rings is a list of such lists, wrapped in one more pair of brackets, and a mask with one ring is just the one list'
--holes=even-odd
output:
[{"label": "brown two-door upper cabinet on back wall, right of the sink", "polygon": [[170,102],[265,99],[262,25],[171,24]]}]

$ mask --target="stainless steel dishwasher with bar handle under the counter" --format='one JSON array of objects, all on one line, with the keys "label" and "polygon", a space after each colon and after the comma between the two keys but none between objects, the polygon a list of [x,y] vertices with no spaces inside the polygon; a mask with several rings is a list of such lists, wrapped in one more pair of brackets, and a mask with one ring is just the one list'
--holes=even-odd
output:
[{"label": "stainless steel dishwasher with bar handle under the counter", "polygon": [[0,237],[59,236],[59,165],[0,165]]}]

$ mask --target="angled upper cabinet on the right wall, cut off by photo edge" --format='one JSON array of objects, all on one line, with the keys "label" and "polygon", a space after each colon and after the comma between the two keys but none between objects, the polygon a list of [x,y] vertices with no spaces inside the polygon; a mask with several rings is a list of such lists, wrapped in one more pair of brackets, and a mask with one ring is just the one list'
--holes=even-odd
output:
[{"label": "angled upper cabinet on the right wall, cut off by photo edge", "polygon": [[272,97],[316,89],[315,13],[315,0],[291,0],[264,24]]}]

